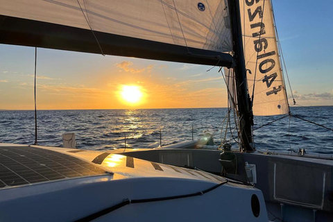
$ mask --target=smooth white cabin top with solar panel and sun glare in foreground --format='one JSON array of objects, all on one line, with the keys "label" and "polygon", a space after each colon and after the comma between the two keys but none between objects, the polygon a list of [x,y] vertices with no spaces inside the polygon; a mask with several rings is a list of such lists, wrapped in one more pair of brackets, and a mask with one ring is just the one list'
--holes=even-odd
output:
[{"label": "smooth white cabin top with solar panel and sun glare in foreground", "polygon": [[99,151],[0,153],[0,221],[268,221],[262,191],[211,173]]}]

